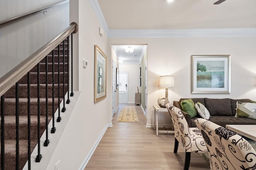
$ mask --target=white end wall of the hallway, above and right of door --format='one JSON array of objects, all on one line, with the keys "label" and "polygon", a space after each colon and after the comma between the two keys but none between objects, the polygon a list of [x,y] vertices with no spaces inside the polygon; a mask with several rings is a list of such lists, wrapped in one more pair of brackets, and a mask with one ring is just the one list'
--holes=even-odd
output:
[{"label": "white end wall of the hallway, above and right of door", "polygon": [[135,104],[135,93],[138,92],[139,86],[139,68],[140,64],[120,64],[120,71],[128,72],[128,103]]}]

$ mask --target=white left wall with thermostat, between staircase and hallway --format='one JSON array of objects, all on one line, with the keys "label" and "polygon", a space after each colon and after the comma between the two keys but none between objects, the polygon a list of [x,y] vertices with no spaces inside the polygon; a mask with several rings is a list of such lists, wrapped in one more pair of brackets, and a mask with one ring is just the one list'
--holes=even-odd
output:
[{"label": "white left wall with thermostat, between staircase and hallway", "polygon": [[[54,169],[54,164],[60,160],[62,170],[77,170],[87,161],[99,137],[106,127],[111,126],[112,111],[112,59],[110,48],[107,49],[107,37],[100,37],[101,26],[91,7],[90,0],[70,0],[70,22],[78,20],[79,47],[78,102],[70,116],[66,129],[49,162],[47,170]],[[104,100],[94,104],[94,45],[107,55],[107,94]],[[88,67],[82,68],[82,59],[88,61]]]}]

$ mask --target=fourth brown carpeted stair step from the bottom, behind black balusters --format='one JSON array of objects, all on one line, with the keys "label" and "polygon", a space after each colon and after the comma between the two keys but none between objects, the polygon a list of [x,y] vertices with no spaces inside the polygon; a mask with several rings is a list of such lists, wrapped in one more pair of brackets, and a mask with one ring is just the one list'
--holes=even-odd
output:
[{"label": "fourth brown carpeted stair step from the bottom, behind black balusters", "polygon": [[[40,86],[40,98],[46,97],[46,86]],[[65,91],[68,90],[68,85],[65,84]],[[28,89],[27,86],[19,86],[19,97],[20,98],[27,98],[28,97]],[[10,88],[4,96],[6,98],[15,98],[15,86]],[[54,86],[54,97],[58,98],[58,84]],[[32,84],[30,85],[30,98],[37,98],[37,85]],[[48,85],[48,98],[52,98],[52,85]],[[63,84],[60,84],[60,98],[63,98]]]}]

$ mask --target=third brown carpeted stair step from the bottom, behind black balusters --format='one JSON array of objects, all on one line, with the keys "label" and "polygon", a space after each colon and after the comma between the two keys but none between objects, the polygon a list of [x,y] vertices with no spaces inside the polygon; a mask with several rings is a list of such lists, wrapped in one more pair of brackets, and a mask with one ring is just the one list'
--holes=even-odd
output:
[{"label": "third brown carpeted stair step from the bottom, behind black balusters", "polygon": [[[50,99],[49,99],[50,100]],[[60,99],[60,102],[62,99]],[[58,108],[58,99],[56,99],[56,102],[54,104],[54,112]],[[62,108],[62,106],[61,106]],[[37,115],[37,102],[32,102],[30,104],[30,114],[31,115]],[[5,102],[4,104],[4,114],[5,115],[15,115],[15,102]],[[28,114],[28,105],[27,103],[20,102],[19,105],[19,115],[27,115]],[[46,105],[45,101],[40,102],[40,115],[46,115]],[[48,115],[52,115],[52,102],[48,101]]]}]

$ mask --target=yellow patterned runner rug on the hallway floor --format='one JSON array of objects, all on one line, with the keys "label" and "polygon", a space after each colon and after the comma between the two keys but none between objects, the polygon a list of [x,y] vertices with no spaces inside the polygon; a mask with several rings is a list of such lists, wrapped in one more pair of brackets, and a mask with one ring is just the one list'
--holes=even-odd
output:
[{"label": "yellow patterned runner rug on the hallway floor", "polygon": [[135,106],[123,106],[117,122],[139,122]]}]

